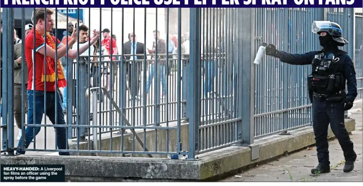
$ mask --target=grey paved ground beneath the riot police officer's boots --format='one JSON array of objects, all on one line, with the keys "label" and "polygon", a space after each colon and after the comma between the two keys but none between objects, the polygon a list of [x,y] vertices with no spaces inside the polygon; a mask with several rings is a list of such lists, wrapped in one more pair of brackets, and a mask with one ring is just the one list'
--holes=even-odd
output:
[{"label": "grey paved ground beneath the riot police officer's boots", "polygon": [[221,181],[362,181],[362,110],[349,114],[356,119],[356,130],[351,140],[357,153],[354,171],[344,173],[344,156],[338,140],[329,142],[332,171],[313,175],[310,170],[317,164],[316,148],[303,150],[273,162],[261,164],[256,168],[228,177]]}]

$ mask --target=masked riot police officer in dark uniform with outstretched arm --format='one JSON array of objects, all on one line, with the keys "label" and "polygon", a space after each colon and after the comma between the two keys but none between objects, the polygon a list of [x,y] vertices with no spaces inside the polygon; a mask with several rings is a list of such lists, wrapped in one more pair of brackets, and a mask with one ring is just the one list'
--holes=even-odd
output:
[{"label": "masked riot police officer in dark uniform with outstretched arm", "polygon": [[[344,111],[353,107],[357,82],[352,58],[347,52],[338,49],[348,44],[348,41],[342,37],[340,26],[333,22],[315,21],[312,32],[319,35],[322,50],[289,54],[269,44],[266,55],[291,65],[312,65],[312,74],[307,76],[307,86],[313,104],[313,129],[319,163],[311,172],[330,172],[327,139],[329,122],[346,160],[343,171],[351,172],[357,155],[344,125]],[[346,82],[348,94],[345,92]]]}]

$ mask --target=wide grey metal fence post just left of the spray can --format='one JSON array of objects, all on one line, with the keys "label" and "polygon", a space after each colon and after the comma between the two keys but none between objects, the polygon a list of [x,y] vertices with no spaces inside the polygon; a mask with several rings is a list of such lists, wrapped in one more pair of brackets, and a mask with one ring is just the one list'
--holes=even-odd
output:
[{"label": "wide grey metal fence post just left of the spray can", "polygon": [[[253,57],[255,57],[255,19],[256,9],[240,9],[243,18],[239,19],[243,27],[240,29],[240,52],[242,52],[242,69],[239,74],[242,100],[239,101],[239,116],[242,116],[242,145],[250,145],[255,137],[255,67],[253,66]],[[244,39],[244,36],[250,39]],[[240,126],[240,125],[238,125]],[[252,149],[253,151],[253,149]],[[252,155],[253,156],[253,155]]]}]

